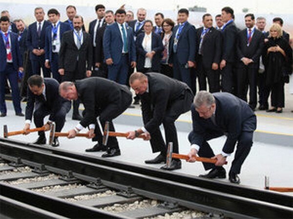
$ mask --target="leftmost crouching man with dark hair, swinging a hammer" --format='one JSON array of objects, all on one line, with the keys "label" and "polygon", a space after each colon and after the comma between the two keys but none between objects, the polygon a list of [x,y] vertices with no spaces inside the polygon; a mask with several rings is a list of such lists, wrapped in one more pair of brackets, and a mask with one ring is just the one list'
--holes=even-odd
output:
[{"label": "leftmost crouching man with dark hair, swinging a hammer", "polygon": [[[44,125],[44,117],[50,115],[45,127],[49,129],[52,122],[56,123],[56,131],[60,132],[65,123],[65,116],[70,110],[70,102],[63,99],[58,92],[59,83],[53,78],[43,79],[40,75],[32,75],[27,80],[27,103],[25,108],[24,131],[30,129],[32,117],[37,128]],[[36,107],[34,111],[34,107]],[[28,134],[26,132],[25,134]],[[34,144],[46,144],[44,131],[39,131],[39,138]],[[53,139],[52,146],[59,146],[58,138]]]}]

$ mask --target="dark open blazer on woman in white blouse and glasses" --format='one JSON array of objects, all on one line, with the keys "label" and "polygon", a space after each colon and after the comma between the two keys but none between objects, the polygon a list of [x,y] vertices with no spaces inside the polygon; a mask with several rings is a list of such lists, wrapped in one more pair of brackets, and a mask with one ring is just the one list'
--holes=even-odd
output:
[{"label": "dark open blazer on woman in white blouse and glasses", "polygon": [[[140,34],[137,36],[135,41],[137,51],[137,69],[143,69],[145,66],[146,51],[144,50],[142,45],[144,37],[145,33]],[[155,33],[151,34],[151,50],[156,52],[151,60],[151,69],[153,72],[159,72],[161,53],[164,50],[164,46],[161,37]]]}]

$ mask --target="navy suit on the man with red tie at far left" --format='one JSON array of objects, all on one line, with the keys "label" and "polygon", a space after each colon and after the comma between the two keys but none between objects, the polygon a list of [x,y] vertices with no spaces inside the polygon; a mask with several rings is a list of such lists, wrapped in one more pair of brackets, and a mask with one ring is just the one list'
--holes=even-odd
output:
[{"label": "navy suit on the man with red tie at far left", "polygon": [[20,91],[18,88],[18,70],[22,67],[22,57],[17,34],[10,32],[10,48],[12,63],[7,63],[6,47],[2,35],[0,35],[0,111],[6,113],[5,82],[8,78],[12,89],[12,101],[16,113],[21,112]]}]

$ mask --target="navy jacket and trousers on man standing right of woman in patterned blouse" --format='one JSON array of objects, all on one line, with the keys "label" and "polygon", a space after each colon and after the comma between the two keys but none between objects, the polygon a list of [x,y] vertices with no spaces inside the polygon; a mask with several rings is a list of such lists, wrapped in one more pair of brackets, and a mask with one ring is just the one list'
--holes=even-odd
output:
[{"label": "navy jacket and trousers on man standing right of woman in patterned blouse", "polygon": [[175,79],[185,82],[195,93],[196,78],[192,77],[193,69],[188,68],[188,61],[195,61],[196,52],[196,30],[193,25],[186,22],[177,42],[177,51],[174,53],[173,45],[179,25],[175,26],[170,39],[169,63],[173,64],[173,76]]}]

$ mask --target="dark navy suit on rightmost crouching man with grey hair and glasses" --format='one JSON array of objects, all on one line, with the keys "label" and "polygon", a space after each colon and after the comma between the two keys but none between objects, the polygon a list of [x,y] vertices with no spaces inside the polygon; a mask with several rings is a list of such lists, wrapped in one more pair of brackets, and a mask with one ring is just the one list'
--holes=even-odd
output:
[{"label": "dark navy suit on rightmost crouching man with grey hair and glasses", "polygon": [[[213,157],[214,153],[209,146],[210,139],[227,135],[227,140],[222,151],[230,154],[237,149],[232,162],[230,172],[240,173],[241,165],[248,156],[251,146],[253,131],[256,128],[256,116],[249,105],[243,100],[227,92],[212,94],[216,101],[215,123],[212,119],[204,119],[199,116],[194,105],[191,106],[192,131],[188,140],[191,145],[198,145],[198,155],[201,157]],[[203,163],[205,169],[214,168],[214,164]]]}]

